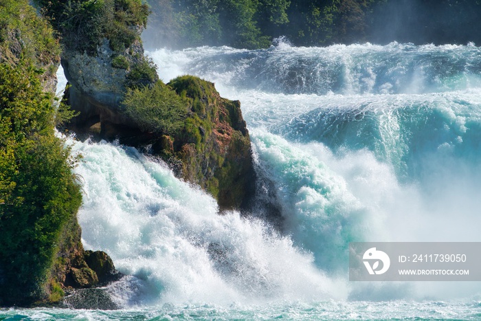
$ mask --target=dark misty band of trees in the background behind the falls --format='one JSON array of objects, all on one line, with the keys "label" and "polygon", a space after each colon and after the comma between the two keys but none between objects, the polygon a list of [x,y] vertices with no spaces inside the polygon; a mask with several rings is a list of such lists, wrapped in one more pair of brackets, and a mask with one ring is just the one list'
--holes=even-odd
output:
[{"label": "dark misty band of trees in the background behind the falls", "polygon": [[481,42],[481,1],[473,0],[149,0],[155,46],[267,47],[390,41]]}]

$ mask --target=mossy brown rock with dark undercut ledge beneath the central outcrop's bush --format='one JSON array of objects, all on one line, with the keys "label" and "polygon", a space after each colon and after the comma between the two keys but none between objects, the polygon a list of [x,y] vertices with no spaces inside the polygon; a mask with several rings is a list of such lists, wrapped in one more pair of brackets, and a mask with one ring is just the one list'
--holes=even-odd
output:
[{"label": "mossy brown rock with dark undercut ledge beneath the central outcrop's bush", "polygon": [[[176,78],[168,86],[188,109],[182,128],[171,135],[144,129],[126,117],[122,105],[107,112],[88,102],[85,109],[76,108],[80,116],[71,129],[138,148],[150,146],[149,152],[169,164],[177,177],[210,192],[221,210],[247,208],[254,195],[255,173],[240,102],[221,98],[212,82],[194,76]],[[71,88],[67,92],[69,104],[83,99]]]}]

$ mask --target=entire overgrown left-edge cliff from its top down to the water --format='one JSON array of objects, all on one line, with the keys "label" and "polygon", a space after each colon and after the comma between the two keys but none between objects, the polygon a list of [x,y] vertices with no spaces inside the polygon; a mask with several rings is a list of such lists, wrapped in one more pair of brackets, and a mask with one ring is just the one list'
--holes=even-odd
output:
[{"label": "entire overgrown left-edge cliff from its top down to the water", "polygon": [[50,276],[82,197],[45,74],[60,47],[27,0],[0,0],[0,305],[58,299]]}]

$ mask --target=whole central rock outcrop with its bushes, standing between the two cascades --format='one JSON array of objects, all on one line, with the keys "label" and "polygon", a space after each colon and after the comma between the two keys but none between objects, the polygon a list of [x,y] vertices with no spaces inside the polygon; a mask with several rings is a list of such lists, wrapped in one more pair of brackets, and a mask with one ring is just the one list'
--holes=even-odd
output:
[{"label": "whole central rock outcrop with its bushes, standing between the two cascades", "polygon": [[[113,8],[96,10],[132,16],[126,20],[134,36],[122,42],[104,26],[96,41],[87,38],[91,45],[64,41],[62,65],[70,85],[65,101],[78,112],[69,130],[79,137],[87,134],[139,148],[151,146],[148,152],[167,162],[178,177],[210,192],[221,210],[245,208],[254,189],[254,170],[240,103],[221,98],[212,83],[192,76],[161,83],[140,42],[144,20],[135,13],[140,2],[110,3]],[[61,16],[56,12],[59,8],[51,8],[52,15]],[[59,30],[65,39],[74,38],[68,27],[60,25]],[[166,112],[172,109],[167,99],[176,101],[179,119]]]}]

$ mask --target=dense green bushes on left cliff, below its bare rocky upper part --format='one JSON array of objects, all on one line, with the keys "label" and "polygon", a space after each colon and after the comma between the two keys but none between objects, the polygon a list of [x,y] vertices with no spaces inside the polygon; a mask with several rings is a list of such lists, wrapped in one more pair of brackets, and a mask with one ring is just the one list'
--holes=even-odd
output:
[{"label": "dense green bushes on left cliff, below its bare rocky upper part", "polygon": [[0,300],[45,296],[63,225],[81,194],[69,151],[54,136],[52,98],[30,63],[0,65]]}]

